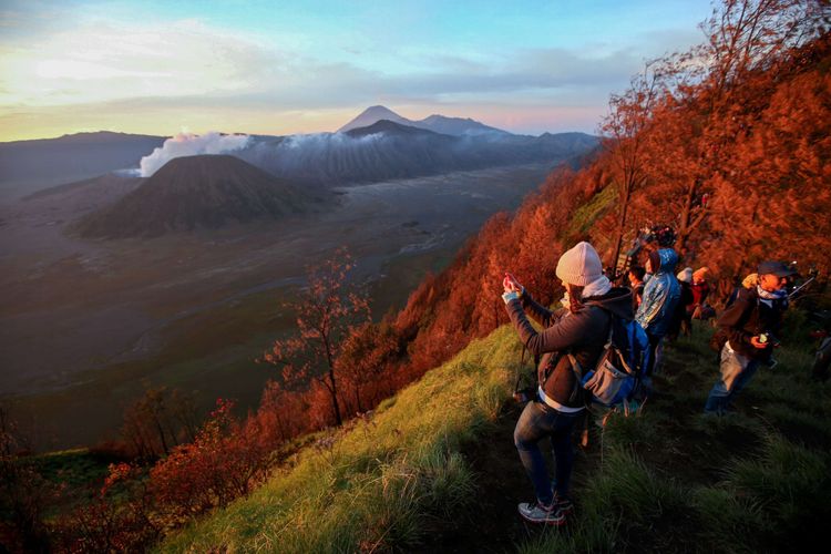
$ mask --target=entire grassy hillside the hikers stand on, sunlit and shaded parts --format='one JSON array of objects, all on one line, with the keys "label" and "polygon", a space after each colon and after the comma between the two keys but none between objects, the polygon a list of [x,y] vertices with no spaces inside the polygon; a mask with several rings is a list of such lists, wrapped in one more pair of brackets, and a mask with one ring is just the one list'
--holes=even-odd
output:
[{"label": "entire grassy hillside the hikers stand on, sunlit and shaded parts", "polygon": [[575,515],[521,523],[531,485],[512,431],[519,342],[502,327],[334,434],[164,552],[765,552],[810,544],[831,515],[831,387],[792,340],[725,418],[700,413],[716,375],[709,329],[667,349],[640,416],[589,423]]}]

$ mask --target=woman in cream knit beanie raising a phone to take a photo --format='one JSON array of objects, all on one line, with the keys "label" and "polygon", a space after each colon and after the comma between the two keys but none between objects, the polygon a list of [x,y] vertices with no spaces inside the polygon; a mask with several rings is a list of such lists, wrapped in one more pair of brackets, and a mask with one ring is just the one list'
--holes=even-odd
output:
[{"label": "woman in cream knit beanie raising a phone to take a photo", "polygon": [[[502,283],[502,298],[523,345],[540,356],[536,396],[525,406],[514,430],[514,444],[536,501],[520,504],[519,511],[530,522],[562,525],[573,507],[568,499],[574,463],[572,430],[585,409],[583,388],[567,353],[581,367],[594,367],[608,337],[612,314],[632,319],[633,312],[632,293],[613,288],[588,243],[579,243],[561,256],[556,276],[565,287],[565,308],[556,312],[534,301],[510,274]],[[532,327],[525,310],[543,327],[541,332]],[[551,438],[556,464],[554,491],[538,447],[546,437]]]}]

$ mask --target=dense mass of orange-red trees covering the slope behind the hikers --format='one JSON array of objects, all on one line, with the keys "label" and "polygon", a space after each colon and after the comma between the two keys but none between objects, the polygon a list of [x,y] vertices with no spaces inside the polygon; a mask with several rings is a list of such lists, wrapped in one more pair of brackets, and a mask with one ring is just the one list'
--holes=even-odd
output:
[{"label": "dense mass of orange-red trees covering the slope behind the hikers", "polygon": [[[722,289],[765,257],[828,268],[822,13],[818,0],[727,0],[702,24],[702,45],[647,64],[612,99],[604,153],[552,174],[515,214],[492,217],[410,296],[396,320],[410,373],[505,321],[502,271],[551,302],[564,247],[589,239],[614,264],[627,227],[674,225],[686,261],[709,265]],[[616,205],[577,212],[608,186]]]}]

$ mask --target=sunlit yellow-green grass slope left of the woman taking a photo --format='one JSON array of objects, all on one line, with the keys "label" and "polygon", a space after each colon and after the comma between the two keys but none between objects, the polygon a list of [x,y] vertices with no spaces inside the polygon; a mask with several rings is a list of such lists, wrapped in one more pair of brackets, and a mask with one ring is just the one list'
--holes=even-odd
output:
[{"label": "sunlit yellow-green grass slope left of the woman taking a photo", "polygon": [[352,552],[418,547],[473,497],[461,447],[486,430],[519,357],[511,329],[383,402],[370,420],[321,434],[246,499],[194,523],[164,552]]}]

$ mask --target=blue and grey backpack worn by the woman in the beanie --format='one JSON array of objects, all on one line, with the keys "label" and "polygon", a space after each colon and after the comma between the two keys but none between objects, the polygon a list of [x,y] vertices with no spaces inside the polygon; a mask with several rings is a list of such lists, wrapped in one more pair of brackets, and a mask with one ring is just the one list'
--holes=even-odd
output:
[{"label": "blue and grey backpack worn by the woman in the beanie", "polygon": [[568,355],[572,368],[592,399],[606,407],[619,404],[637,390],[649,360],[649,339],[640,324],[611,314],[609,334],[596,366],[583,373]]}]

